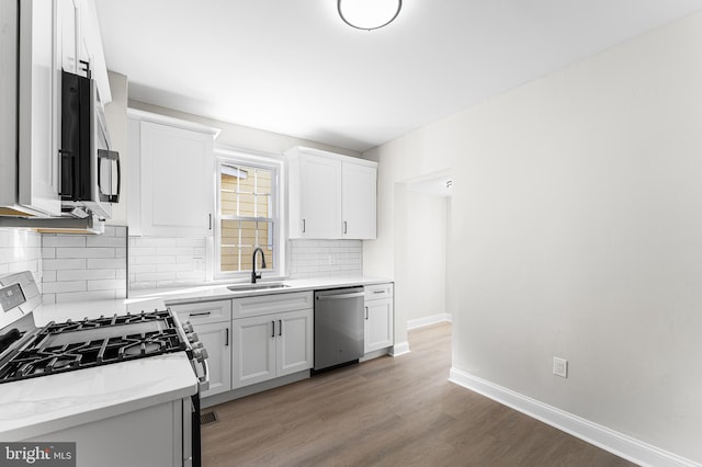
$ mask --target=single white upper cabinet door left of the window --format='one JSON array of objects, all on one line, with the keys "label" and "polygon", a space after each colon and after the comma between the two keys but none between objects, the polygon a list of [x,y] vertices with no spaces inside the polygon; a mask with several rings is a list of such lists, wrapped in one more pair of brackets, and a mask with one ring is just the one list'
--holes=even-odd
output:
[{"label": "single white upper cabinet door left of the window", "polygon": [[208,237],[214,206],[212,135],[140,123],[141,232]]}]

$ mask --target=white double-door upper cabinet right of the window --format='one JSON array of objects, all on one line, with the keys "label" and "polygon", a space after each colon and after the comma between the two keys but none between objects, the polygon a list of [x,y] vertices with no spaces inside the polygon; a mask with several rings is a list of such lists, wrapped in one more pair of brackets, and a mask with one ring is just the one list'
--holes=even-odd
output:
[{"label": "white double-door upper cabinet right of the window", "polygon": [[285,156],[290,238],[375,238],[375,162],[303,147]]}]

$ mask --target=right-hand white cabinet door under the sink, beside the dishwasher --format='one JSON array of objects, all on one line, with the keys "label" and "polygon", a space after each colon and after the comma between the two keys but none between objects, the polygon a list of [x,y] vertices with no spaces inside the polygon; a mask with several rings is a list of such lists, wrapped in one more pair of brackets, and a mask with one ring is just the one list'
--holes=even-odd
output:
[{"label": "right-hand white cabinet door under the sink, beside the dishwasher", "polygon": [[313,367],[313,310],[288,311],[278,316],[278,376]]}]

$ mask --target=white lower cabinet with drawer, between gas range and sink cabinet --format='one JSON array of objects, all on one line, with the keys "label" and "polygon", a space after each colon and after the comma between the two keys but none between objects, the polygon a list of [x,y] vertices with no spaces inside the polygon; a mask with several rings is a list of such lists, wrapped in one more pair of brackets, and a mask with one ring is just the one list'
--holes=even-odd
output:
[{"label": "white lower cabinet with drawer, between gas range and sink cabinet", "polygon": [[231,300],[171,305],[181,322],[190,321],[197,339],[207,351],[210,389],[200,397],[231,389]]}]

